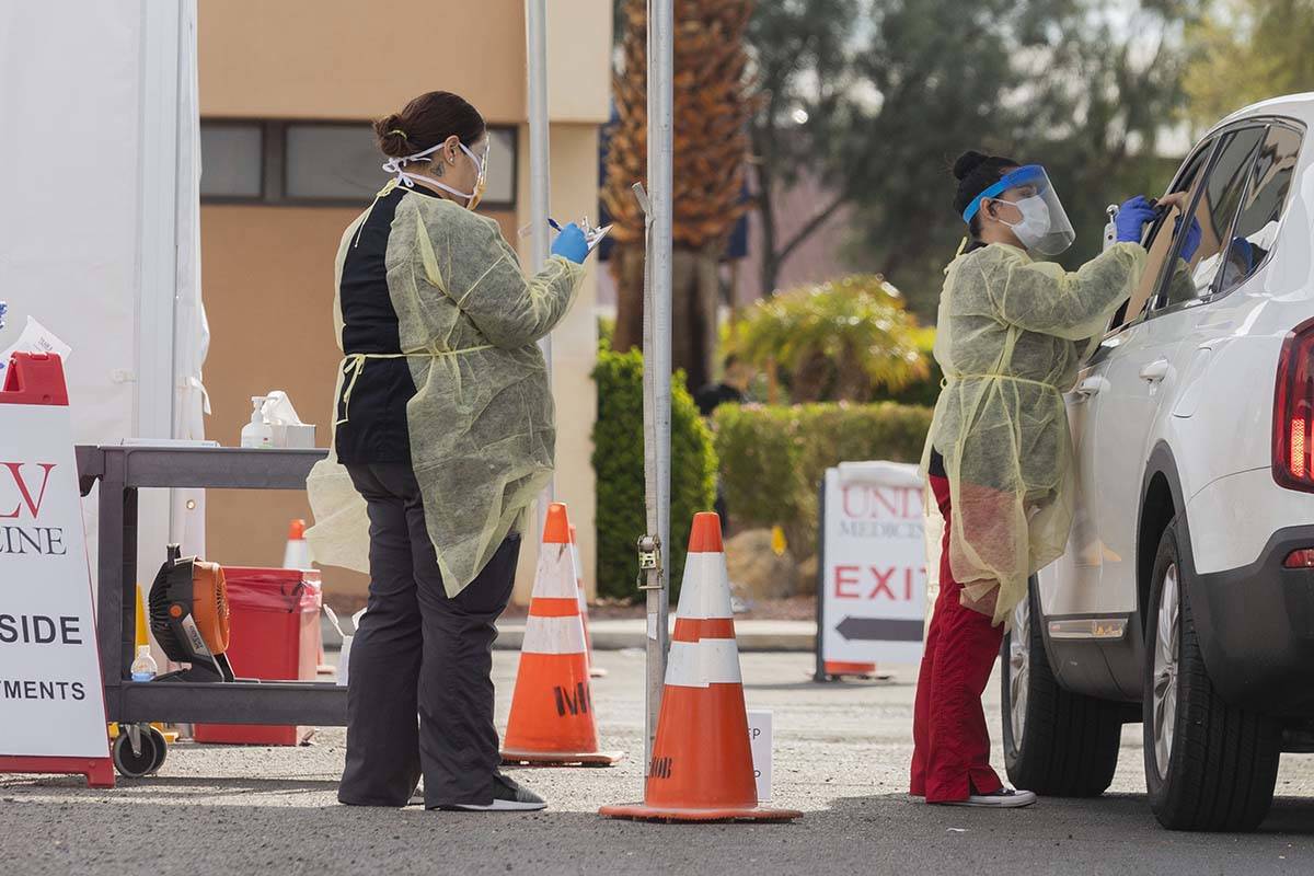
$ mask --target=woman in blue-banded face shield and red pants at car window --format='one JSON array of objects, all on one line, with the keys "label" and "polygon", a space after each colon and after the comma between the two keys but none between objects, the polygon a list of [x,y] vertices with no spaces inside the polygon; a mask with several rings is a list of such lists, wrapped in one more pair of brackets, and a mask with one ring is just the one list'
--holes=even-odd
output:
[{"label": "woman in blue-banded face shield and red pants at car window", "polygon": [[1076,272],[1041,261],[1075,239],[1038,164],[967,152],[954,165],[968,239],[945,271],[936,360],[945,387],[926,440],[928,508],[945,519],[940,598],[913,717],[911,791],[928,802],[1021,806],[989,766],[982,711],[1003,621],[1031,573],[1063,553],[1072,441],[1063,393],[1141,276],[1143,197],[1118,242]]}]

